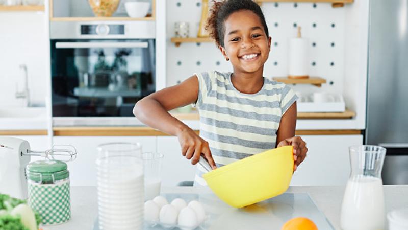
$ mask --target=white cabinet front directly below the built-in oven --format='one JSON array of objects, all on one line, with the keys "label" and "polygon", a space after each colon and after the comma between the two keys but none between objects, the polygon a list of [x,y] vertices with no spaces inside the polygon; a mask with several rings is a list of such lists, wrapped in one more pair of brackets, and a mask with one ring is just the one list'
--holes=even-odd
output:
[{"label": "white cabinet front directly below the built-in oven", "polygon": [[143,152],[156,151],[156,136],[55,136],[54,144],[72,145],[77,159],[68,162],[71,185],[96,186],[97,146],[112,142],[140,143]]}]

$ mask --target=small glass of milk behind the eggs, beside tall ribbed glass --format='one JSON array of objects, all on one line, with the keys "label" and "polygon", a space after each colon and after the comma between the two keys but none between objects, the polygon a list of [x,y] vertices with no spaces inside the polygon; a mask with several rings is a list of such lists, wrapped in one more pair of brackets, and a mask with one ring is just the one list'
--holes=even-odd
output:
[{"label": "small glass of milk behind the eggs, beside tall ribbed glass", "polygon": [[144,197],[151,200],[160,195],[162,183],[163,154],[157,152],[142,153],[144,169]]}]

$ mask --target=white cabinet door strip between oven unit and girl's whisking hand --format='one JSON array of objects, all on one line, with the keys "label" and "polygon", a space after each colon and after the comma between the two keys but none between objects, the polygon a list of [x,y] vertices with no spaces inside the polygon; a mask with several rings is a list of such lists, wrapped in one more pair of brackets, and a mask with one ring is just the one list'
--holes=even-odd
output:
[{"label": "white cabinet door strip between oven unit and girl's whisking hand", "polygon": [[177,137],[158,136],[157,151],[164,155],[162,186],[176,186],[179,182],[194,180],[195,166],[182,155]]}]

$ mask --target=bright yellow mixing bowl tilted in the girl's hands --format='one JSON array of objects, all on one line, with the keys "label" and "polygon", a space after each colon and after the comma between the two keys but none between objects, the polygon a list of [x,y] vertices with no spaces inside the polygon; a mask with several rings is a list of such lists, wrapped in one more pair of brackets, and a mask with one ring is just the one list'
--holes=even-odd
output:
[{"label": "bright yellow mixing bowl tilted in the girl's hands", "polygon": [[284,193],[293,164],[293,147],[284,146],[222,166],[203,178],[221,200],[242,208]]}]

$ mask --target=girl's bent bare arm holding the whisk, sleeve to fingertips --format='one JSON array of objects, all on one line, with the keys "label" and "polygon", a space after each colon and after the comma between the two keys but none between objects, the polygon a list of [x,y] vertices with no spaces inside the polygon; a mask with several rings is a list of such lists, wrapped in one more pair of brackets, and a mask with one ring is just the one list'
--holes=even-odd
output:
[{"label": "girl's bent bare arm holding the whisk, sleeve to fingertips", "polygon": [[182,154],[197,164],[203,153],[215,168],[208,143],[191,128],[174,118],[167,111],[192,104],[198,98],[198,78],[189,77],[180,84],[164,88],[138,101],[133,109],[135,116],[144,124],[179,138]]}]

